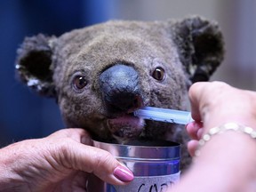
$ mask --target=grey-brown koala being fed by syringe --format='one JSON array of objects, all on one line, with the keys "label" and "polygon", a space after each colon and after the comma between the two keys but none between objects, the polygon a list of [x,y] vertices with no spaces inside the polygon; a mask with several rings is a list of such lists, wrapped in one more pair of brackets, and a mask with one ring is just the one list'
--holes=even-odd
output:
[{"label": "grey-brown koala being fed by syringe", "polygon": [[144,120],[144,106],[186,110],[188,88],[208,81],[220,65],[224,42],[217,23],[198,16],[182,20],[110,20],[59,37],[26,37],[18,49],[24,84],[54,98],[67,127],[95,140],[172,140],[190,156],[184,126]]}]

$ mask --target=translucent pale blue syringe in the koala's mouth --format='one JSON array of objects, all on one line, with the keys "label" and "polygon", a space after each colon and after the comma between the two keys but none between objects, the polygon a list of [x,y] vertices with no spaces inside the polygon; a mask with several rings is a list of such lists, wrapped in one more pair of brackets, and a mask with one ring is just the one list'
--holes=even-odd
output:
[{"label": "translucent pale blue syringe in the koala's mouth", "polygon": [[134,116],[172,124],[188,124],[194,121],[190,112],[168,108],[144,107],[134,111]]}]

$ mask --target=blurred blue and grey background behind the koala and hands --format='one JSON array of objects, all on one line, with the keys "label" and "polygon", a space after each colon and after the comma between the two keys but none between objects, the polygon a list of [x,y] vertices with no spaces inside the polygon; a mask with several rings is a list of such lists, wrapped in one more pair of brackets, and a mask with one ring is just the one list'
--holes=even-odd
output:
[{"label": "blurred blue and grey background behind the koala and hands", "polygon": [[256,91],[254,0],[1,0],[0,147],[64,127],[54,100],[37,96],[15,79],[16,50],[25,36],[60,36],[113,19],[167,20],[191,14],[218,21],[225,37],[225,61],[212,80]]}]

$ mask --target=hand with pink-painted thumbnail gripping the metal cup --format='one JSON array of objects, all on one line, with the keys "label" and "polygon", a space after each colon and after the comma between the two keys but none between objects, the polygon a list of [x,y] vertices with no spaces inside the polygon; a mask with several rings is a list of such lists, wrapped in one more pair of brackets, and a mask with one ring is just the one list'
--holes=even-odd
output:
[{"label": "hand with pink-painted thumbnail gripping the metal cup", "polygon": [[90,146],[83,129],[63,129],[0,149],[0,191],[87,191],[89,173],[114,185],[133,174],[107,151]]}]

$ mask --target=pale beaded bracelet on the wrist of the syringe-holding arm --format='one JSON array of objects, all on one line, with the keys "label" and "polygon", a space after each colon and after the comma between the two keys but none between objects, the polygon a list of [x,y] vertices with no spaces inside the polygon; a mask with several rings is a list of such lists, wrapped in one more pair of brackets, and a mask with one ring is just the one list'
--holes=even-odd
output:
[{"label": "pale beaded bracelet on the wrist of the syringe-holding arm", "polygon": [[200,156],[200,148],[202,148],[207,141],[211,140],[213,135],[227,131],[244,132],[245,134],[251,136],[252,139],[256,139],[256,132],[252,129],[252,127],[244,126],[243,124],[236,124],[233,122],[223,124],[213,127],[208,133],[204,134],[204,136],[198,142],[198,148],[196,149],[195,156]]}]

